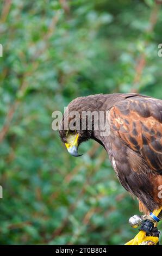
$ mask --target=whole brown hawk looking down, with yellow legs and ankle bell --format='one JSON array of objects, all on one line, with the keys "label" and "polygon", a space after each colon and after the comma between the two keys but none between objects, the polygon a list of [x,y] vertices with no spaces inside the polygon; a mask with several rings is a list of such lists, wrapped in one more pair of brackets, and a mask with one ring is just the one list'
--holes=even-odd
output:
[{"label": "whole brown hawk looking down, with yellow legs and ankle bell", "polygon": [[[93,118],[91,129],[88,129],[87,119],[85,129],[81,125],[79,129],[71,129],[70,113],[79,113],[82,123],[82,113],[94,111],[104,113],[102,117],[106,122],[99,121],[109,126],[108,133],[103,136],[100,126],[94,129]],[[73,124],[75,126],[76,122]],[[80,143],[89,139],[104,147],[117,178],[132,196],[138,198],[139,209],[145,214],[141,217],[141,231],[126,245],[142,242],[147,245],[148,241],[157,244],[159,233],[155,227],[162,210],[162,100],[140,94],[78,97],[66,108],[59,133],[73,156],[79,156]]]}]

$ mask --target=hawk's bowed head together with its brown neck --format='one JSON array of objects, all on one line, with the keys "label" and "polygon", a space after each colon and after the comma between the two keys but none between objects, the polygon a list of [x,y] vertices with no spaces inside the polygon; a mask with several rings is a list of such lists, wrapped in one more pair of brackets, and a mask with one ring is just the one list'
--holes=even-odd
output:
[{"label": "hawk's bowed head together with its brown neck", "polygon": [[[125,97],[121,94],[121,97]],[[96,94],[77,97],[67,106],[60,123],[60,138],[68,152],[73,156],[78,155],[78,147],[82,142],[95,139],[104,147],[101,139],[96,137],[96,131],[104,129],[105,116],[100,118],[100,113],[106,112],[118,101],[119,94]],[[98,123],[98,130],[96,128]]]}]

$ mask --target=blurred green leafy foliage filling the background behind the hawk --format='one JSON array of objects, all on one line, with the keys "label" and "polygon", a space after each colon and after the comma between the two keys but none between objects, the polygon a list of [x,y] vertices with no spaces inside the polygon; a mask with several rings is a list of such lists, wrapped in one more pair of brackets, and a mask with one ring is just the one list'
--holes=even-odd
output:
[{"label": "blurred green leafy foliage filling the background behind the hawk", "polygon": [[0,242],[119,245],[138,230],[138,203],[95,142],[67,154],[52,112],[77,96],[130,92],[162,99],[162,11],[154,1],[1,1]]}]

